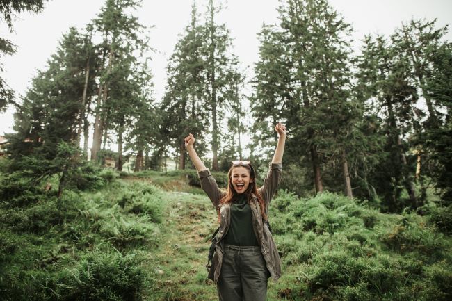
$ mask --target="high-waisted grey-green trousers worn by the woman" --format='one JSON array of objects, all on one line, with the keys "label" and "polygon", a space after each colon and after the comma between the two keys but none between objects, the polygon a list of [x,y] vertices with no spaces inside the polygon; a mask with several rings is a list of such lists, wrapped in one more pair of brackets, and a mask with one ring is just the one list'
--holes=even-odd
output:
[{"label": "high-waisted grey-green trousers worn by the woman", "polygon": [[220,301],[265,301],[268,277],[260,247],[225,245],[217,283]]}]

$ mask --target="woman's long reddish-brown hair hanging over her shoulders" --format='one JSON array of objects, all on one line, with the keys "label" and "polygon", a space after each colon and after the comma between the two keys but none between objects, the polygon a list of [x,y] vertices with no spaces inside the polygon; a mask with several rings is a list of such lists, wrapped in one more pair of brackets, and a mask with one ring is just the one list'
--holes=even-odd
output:
[{"label": "woman's long reddish-brown hair hanging over her shoulders", "polygon": [[[256,173],[255,169],[252,167],[251,163],[246,165],[232,165],[231,168],[229,168],[229,171],[227,172],[227,189],[226,194],[220,199],[220,204],[228,204],[232,202],[232,200],[236,199],[236,197],[239,196],[239,193],[236,193],[236,190],[234,189],[234,186],[232,186],[232,170],[237,167],[244,167],[250,172],[250,179],[252,179],[252,183],[246,188],[245,195],[246,199],[249,201],[251,194],[254,194],[257,197],[257,200],[259,202],[259,207],[261,209],[261,215],[264,218],[264,220],[267,220],[267,215],[265,214],[265,202],[262,198],[261,194],[257,191],[257,185],[256,185]],[[218,222],[220,221],[220,211],[218,210]]]}]

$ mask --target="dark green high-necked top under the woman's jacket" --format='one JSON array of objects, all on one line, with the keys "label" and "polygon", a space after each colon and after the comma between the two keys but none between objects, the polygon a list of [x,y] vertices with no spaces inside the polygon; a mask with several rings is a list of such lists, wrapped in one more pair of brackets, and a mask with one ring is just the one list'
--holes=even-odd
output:
[{"label": "dark green high-necked top under the woman's jacket", "polygon": [[242,193],[231,204],[231,223],[225,236],[228,245],[259,246],[252,227],[252,212],[246,195]]}]

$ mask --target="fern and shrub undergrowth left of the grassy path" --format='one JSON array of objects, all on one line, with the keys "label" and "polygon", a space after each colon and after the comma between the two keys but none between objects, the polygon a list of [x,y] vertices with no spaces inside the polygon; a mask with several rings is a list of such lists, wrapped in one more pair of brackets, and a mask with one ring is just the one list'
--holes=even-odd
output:
[{"label": "fern and shrub undergrowth left of the grassy path", "polygon": [[19,181],[39,192],[24,204],[8,183],[2,179],[3,300],[142,300],[150,274],[140,248],[159,244],[159,189],[113,181],[97,192],[68,191],[58,209],[56,195],[42,186]]}]

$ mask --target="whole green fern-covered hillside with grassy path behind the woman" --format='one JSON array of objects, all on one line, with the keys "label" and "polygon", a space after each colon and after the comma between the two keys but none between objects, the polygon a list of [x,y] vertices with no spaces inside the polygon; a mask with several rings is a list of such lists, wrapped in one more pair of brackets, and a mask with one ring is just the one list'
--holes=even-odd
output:
[{"label": "whole green fern-covered hillside with grassy path behind the woman", "polygon": [[[204,267],[216,213],[202,191],[180,174],[114,178],[67,191],[60,208],[52,190],[2,182],[3,300],[216,300]],[[280,191],[270,221],[283,276],[268,300],[451,300],[442,216]]]}]

